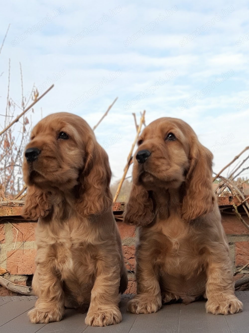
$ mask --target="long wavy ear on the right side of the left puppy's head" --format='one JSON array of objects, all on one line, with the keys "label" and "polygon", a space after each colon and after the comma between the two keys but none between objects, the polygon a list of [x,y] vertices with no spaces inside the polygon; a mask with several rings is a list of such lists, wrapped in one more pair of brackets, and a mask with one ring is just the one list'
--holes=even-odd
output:
[{"label": "long wavy ear on the right side of the left puppy's head", "polygon": [[107,211],[112,205],[111,169],[108,155],[96,142],[89,142],[85,167],[79,176],[79,214],[89,216]]}]

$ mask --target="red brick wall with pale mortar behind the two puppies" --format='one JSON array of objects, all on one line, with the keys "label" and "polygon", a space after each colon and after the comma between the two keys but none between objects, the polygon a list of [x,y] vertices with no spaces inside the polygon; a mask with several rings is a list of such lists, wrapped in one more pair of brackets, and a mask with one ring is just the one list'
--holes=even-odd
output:
[{"label": "red brick wall with pale mortar behind the two puppies", "polygon": [[[222,213],[222,224],[227,234],[234,271],[249,262],[249,230],[236,218],[235,215]],[[247,216],[244,220],[249,224]],[[34,232],[36,222],[17,222],[10,220],[12,224],[0,222],[0,266],[7,269],[10,275],[6,277],[10,280],[19,281],[25,284],[27,275],[33,274],[35,269],[34,259],[36,248],[34,243]],[[126,268],[128,271],[128,288],[126,293],[135,293],[135,242],[137,231],[134,226],[117,222],[125,256]],[[17,230],[18,229],[18,234]],[[16,242],[16,244],[15,244]],[[15,249],[14,249],[15,245]],[[249,273],[245,269],[242,274]],[[239,278],[238,274],[236,278]],[[6,294],[6,290],[0,287],[0,295]]]}]

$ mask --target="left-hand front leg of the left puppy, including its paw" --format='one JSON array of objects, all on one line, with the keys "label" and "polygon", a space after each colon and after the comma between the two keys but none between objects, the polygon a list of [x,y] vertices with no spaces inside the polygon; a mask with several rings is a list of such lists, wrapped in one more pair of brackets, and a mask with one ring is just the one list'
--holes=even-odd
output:
[{"label": "left-hand front leg of the left puppy, including its paw", "polygon": [[34,274],[32,288],[37,296],[35,308],[28,312],[30,321],[49,323],[61,320],[64,314],[64,292],[51,262],[40,262]]}]

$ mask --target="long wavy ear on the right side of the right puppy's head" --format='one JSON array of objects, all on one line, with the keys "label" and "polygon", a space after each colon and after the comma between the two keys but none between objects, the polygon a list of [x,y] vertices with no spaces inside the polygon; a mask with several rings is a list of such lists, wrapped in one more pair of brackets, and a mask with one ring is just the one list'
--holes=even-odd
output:
[{"label": "long wavy ear on the right side of the right puppy's head", "polygon": [[213,208],[212,158],[212,153],[195,139],[191,145],[190,167],[182,202],[182,218],[186,221],[203,217]]}]

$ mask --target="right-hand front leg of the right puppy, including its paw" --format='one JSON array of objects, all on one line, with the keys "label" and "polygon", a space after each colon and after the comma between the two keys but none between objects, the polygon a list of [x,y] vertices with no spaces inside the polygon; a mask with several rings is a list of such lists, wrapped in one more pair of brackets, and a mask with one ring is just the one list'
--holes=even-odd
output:
[{"label": "right-hand front leg of the right puppy, including its paw", "polygon": [[[219,254],[221,255],[222,252]],[[206,309],[213,314],[237,313],[243,308],[243,304],[234,294],[230,259],[223,251],[223,257],[225,256],[226,261],[210,258],[207,267]]]}]

